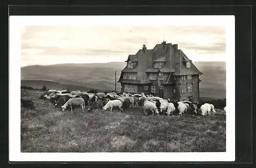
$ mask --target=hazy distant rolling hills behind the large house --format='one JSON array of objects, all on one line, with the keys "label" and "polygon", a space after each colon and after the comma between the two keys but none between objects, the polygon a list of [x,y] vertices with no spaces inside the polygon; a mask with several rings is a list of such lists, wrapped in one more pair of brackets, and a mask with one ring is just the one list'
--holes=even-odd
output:
[{"label": "hazy distant rolling hills behind the large house", "polygon": [[[203,73],[200,76],[200,97],[226,98],[225,62],[193,63]],[[52,81],[46,85],[56,89],[81,86],[81,90],[113,90],[115,70],[118,80],[124,67],[125,62],[25,66],[21,68],[22,86],[41,88],[46,81]],[[120,90],[120,83],[117,83],[117,89]]]}]

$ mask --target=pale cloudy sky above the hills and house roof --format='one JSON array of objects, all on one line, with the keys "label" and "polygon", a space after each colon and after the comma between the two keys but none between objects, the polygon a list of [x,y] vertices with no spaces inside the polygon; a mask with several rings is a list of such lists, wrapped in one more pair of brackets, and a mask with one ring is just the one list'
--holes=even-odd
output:
[{"label": "pale cloudy sky above the hills and house roof", "polygon": [[23,26],[22,64],[122,62],[145,43],[178,44],[192,61],[225,61],[225,27],[221,26]]}]

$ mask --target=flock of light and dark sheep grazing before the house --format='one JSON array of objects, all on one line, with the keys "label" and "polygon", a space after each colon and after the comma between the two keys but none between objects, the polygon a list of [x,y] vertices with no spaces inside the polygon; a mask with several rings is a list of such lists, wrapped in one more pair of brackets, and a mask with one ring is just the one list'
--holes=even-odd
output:
[{"label": "flock of light and dark sheep grazing before the house", "polygon": [[[179,114],[182,116],[184,113],[190,113],[195,115],[209,115],[215,114],[214,105],[205,103],[203,105],[199,103],[191,103],[188,101],[178,101],[175,99],[163,99],[159,97],[153,97],[153,95],[141,94],[126,94],[116,92],[111,93],[88,93],[81,92],[80,90],[67,91],[67,90],[48,90],[44,92],[39,99],[49,100],[56,108],[61,108],[62,111],[74,108],[84,108],[89,106],[88,112],[96,109],[107,110],[112,112],[113,108],[117,108],[120,112],[127,110],[131,107],[143,107],[144,114],[152,112],[152,115],[161,113],[162,115]],[[24,107],[33,107],[32,101],[21,99]],[[226,107],[224,108],[226,112]]]}]

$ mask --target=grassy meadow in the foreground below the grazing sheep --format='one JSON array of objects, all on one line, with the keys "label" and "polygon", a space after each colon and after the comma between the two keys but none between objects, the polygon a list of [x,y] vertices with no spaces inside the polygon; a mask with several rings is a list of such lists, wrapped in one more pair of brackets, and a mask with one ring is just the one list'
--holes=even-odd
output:
[{"label": "grassy meadow in the foreground below the grazing sheep", "polygon": [[[224,152],[226,115],[142,114],[142,108],[62,112],[41,92],[22,90],[35,110],[21,108],[21,152]],[[88,107],[86,107],[88,108]]]}]

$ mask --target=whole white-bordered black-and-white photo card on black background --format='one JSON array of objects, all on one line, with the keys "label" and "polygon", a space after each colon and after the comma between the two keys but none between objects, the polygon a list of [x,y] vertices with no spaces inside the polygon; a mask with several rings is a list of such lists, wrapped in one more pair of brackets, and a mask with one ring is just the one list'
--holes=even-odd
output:
[{"label": "whole white-bordered black-and-white photo card on black background", "polygon": [[10,16],[9,57],[10,161],[235,159],[234,16]]}]

